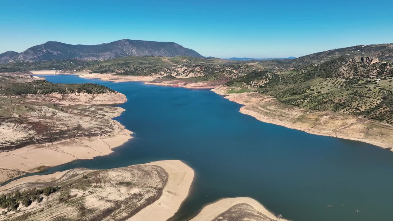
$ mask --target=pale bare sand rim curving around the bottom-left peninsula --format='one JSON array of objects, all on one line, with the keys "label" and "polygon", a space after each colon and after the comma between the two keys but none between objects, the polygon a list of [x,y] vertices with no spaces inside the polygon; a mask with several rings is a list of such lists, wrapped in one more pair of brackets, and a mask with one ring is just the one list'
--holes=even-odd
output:
[{"label": "pale bare sand rim curving around the bottom-left peninsula", "polygon": [[[167,183],[162,189],[162,194],[158,199],[156,199],[151,204],[141,208],[136,214],[132,215],[127,220],[157,220],[166,221],[172,217],[180,208],[180,205],[188,197],[191,189],[191,184],[194,179],[194,170],[187,164],[180,160],[160,160],[155,162],[150,162],[146,164],[136,164],[123,168],[112,168],[112,169],[86,169],[86,168],[74,168],[66,171],[58,171],[48,175],[33,175],[29,177],[22,177],[17,180],[13,180],[4,186],[0,186],[0,191],[10,192],[15,189],[20,189],[20,191],[34,187],[35,185],[44,185],[44,183],[54,183],[54,182],[72,182],[75,177],[80,177],[82,174],[90,174],[92,172],[109,172],[116,171],[113,175],[116,177],[121,176],[121,173],[127,173],[127,169],[138,168],[138,166],[149,167],[158,166],[162,168],[167,173]],[[71,178],[74,177],[74,178]],[[125,175],[127,177],[127,175]],[[128,177],[132,178],[132,177]],[[142,178],[142,177],[140,177]],[[121,178],[118,178],[121,180]],[[137,182],[137,181],[136,181]],[[154,183],[152,183],[154,185]],[[119,187],[121,193],[124,194],[125,187]],[[108,189],[112,190],[112,189]],[[130,189],[131,192],[138,190],[138,188]],[[90,192],[90,191],[89,191]],[[113,195],[118,193],[108,192],[112,194],[110,199],[113,199]],[[105,201],[105,200],[104,200]],[[96,202],[96,201],[94,201]],[[57,203],[57,202],[56,202]],[[28,208],[29,209],[29,208]]]}]

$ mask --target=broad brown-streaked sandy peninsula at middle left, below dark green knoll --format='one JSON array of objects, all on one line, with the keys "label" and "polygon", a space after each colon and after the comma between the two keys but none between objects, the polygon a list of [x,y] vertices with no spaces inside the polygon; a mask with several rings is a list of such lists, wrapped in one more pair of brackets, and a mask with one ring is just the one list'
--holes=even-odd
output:
[{"label": "broad brown-streaked sandy peninsula at middle left, below dark green knoll", "polygon": [[113,148],[132,138],[132,132],[112,120],[124,109],[99,105],[126,101],[124,94],[113,91],[1,95],[0,183],[43,168],[112,153]]}]

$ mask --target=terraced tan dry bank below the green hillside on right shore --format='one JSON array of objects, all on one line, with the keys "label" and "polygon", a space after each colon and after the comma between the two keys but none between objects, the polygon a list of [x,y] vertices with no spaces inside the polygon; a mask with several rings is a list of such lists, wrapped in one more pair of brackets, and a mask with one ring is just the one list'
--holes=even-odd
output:
[{"label": "terraced tan dry bank below the green hillside on right shore", "polygon": [[393,126],[356,116],[332,112],[310,112],[283,105],[272,97],[258,93],[231,93],[230,87],[221,86],[212,91],[245,105],[240,112],[266,123],[273,123],[311,134],[357,140],[388,148],[393,144]]}]

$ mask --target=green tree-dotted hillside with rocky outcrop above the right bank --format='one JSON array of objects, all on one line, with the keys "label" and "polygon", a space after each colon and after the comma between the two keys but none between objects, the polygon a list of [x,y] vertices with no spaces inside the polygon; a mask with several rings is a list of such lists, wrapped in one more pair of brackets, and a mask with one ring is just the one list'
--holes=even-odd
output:
[{"label": "green tree-dotted hillside with rocky outcrop above the right bank", "polygon": [[393,124],[393,63],[338,57],[291,71],[250,73],[226,85],[253,88],[286,105]]}]

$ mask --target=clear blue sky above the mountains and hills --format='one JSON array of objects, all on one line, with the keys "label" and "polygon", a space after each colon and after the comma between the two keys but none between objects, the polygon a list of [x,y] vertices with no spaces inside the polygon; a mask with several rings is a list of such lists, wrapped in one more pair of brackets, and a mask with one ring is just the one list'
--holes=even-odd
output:
[{"label": "clear blue sky above the mountains and hills", "polygon": [[393,1],[19,0],[0,5],[0,53],[47,41],[171,41],[214,57],[288,57],[393,42]]}]

